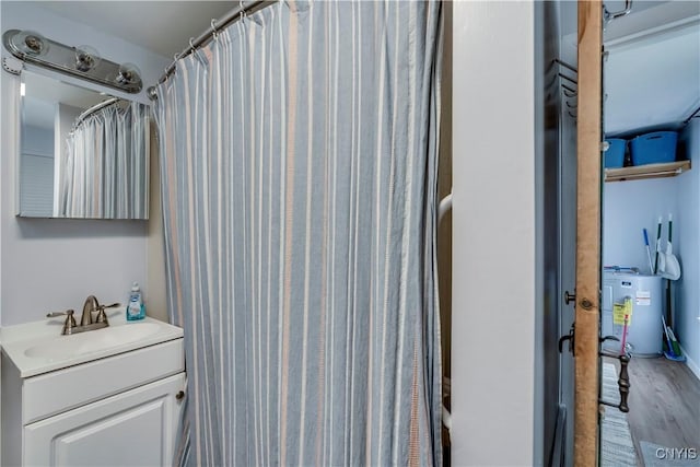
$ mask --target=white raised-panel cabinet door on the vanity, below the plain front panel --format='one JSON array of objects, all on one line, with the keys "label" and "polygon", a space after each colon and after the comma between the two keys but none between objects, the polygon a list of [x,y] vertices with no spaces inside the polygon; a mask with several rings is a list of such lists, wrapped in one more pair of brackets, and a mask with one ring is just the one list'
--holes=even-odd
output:
[{"label": "white raised-panel cabinet door on the vanity, below the plain front panel", "polygon": [[24,465],[171,465],[184,389],[179,373],[27,424]]}]

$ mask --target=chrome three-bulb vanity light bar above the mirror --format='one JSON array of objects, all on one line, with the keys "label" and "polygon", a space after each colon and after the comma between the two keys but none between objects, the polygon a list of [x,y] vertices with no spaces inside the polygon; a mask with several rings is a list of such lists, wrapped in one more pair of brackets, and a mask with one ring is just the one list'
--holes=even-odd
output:
[{"label": "chrome three-bulb vanity light bar above the mirror", "polygon": [[141,73],[133,63],[102,59],[94,47],[67,46],[33,31],[9,30],[2,35],[4,47],[27,63],[70,74],[127,93],[143,87]]}]

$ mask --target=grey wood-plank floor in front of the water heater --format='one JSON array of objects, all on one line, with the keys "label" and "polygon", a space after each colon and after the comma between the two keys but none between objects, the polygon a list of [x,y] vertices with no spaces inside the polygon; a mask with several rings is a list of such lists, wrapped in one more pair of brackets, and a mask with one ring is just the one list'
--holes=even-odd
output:
[{"label": "grey wood-plank floor in front of the water heater", "polygon": [[688,366],[664,358],[632,358],[628,369],[628,421],[637,452],[640,441],[700,451],[700,381]]}]

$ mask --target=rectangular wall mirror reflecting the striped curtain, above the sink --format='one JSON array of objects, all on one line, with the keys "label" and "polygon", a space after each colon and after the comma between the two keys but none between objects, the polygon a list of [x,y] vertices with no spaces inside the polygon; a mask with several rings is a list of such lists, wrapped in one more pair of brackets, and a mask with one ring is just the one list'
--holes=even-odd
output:
[{"label": "rectangular wall mirror reflecting the striped curtain, above the sink", "polygon": [[22,72],[18,215],[148,219],[149,107]]}]

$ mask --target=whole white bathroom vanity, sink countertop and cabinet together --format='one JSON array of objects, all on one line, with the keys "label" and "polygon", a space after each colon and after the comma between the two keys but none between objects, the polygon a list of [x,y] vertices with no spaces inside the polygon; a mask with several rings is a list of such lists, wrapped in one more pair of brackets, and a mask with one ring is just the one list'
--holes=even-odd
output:
[{"label": "whole white bathroom vanity, sink countertop and cabinet together", "polygon": [[2,465],[172,464],[183,329],[109,315],[109,327],[71,336],[60,318],[0,329]]}]

